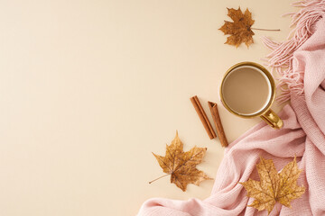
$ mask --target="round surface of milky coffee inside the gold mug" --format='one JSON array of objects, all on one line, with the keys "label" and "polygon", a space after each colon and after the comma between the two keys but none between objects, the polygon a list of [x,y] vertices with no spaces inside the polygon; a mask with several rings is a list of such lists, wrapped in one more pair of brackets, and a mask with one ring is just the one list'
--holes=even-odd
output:
[{"label": "round surface of milky coffee inside the gold mug", "polygon": [[262,71],[244,66],[226,76],[222,92],[231,110],[249,115],[265,108],[271,97],[271,85]]}]

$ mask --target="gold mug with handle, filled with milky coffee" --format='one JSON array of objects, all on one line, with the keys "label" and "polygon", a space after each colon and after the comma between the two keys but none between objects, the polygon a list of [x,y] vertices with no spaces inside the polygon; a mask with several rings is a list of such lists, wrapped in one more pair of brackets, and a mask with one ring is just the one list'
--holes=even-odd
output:
[{"label": "gold mug with handle, filled with milky coffee", "polygon": [[243,118],[261,117],[274,129],[283,121],[270,107],[274,103],[274,78],[255,62],[241,62],[230,67],[222,79],[220,98],[229,112]]}]

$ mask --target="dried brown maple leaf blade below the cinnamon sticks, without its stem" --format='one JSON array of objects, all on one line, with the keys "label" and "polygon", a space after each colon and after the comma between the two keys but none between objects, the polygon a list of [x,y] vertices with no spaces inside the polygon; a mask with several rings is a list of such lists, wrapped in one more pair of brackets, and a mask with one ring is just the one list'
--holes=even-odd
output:
[{"label": "dried brown maple leaf blade below the cinnamon sticks, without its stem", "polygon": [[187,184],[199,185],[200,182],[211,179],[204,172],[196,168],[202,162],[207,148],[191,148],[190,151],[183,151],[181,139],[176,136],[171,145],[166,145],[165,157],[153,153],[163,172],[171,175],[171,183],[176,184],[182,191],[186,191]]}]

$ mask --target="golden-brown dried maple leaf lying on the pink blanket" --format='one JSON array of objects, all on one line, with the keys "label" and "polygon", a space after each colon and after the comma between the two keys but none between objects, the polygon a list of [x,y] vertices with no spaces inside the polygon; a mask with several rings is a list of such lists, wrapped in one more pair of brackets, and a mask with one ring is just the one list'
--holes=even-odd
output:
[{"label": "golden-brown dried maple leaf lying on the pink blanket", "polygon": [[305,192],[303,186],[297,185],[297,179],[302,170],[298,169],[296,158],[284,166],[281,173],[275,169],[272,159],[261,157],[261,161],[256,166],[260,182],[249,179],[243,184],[248,197],[255,198],[250,207],[258,211],[267,210],[268,214],[274,209],[275,202],[280,202],[284,206],[291,208],[291,201],[299,198]]}]

